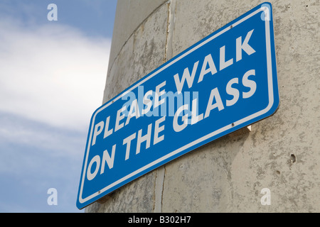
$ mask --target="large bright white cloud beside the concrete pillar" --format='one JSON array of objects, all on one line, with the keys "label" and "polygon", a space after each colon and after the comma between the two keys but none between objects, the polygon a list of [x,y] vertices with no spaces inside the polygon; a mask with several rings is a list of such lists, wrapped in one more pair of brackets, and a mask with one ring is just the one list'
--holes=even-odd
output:
[{"label": "large bright white cloud beside the concrete pillar", "polygon": [[86,131],[102,103],[110,40],[55,22],[6,20],[0,31],[0,111]]}]

